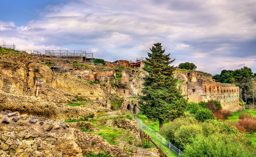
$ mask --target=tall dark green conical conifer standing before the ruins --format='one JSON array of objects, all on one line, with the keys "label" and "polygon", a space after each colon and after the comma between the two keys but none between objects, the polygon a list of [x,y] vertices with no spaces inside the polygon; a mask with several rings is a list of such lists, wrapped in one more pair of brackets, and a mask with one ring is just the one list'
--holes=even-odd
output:
[{"label": "tall dark green conical conifer standing before the ruins", "polygon": [[147,53],[144,62],[144,71],[148,75],[144,78],[140,96],[140,110],[147,118],[159,121],[159,129],[164,122],[172,121],[181,116],[186,106],[180,89],[176,87],[177,79],[174,78],[176,67],[170,66],[170,54],[165,55],[161,43],[154,43],[152,53]]}]

